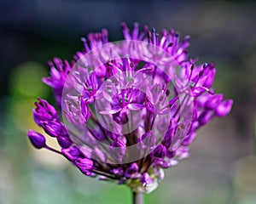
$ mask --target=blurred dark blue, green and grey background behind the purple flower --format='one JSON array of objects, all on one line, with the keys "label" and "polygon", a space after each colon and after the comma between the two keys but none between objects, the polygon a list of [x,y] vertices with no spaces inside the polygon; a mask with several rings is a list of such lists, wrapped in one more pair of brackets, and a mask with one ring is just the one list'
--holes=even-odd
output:
[{"label": "blurred dark blue, green and grey background behind the purple flower", "polygon": [[[189,34],[191,58],[215,61],[215,88],[235,100],[201,129],[189,160],[166,171],[147,203],[256,203],[256,3],[250,1],[0,0],[0,203],[131,203],[125,186],[85,178],[26,139],[33,101],[52,101],[47,61],[72,59],[80,37],[138,21]],[[52,141],[49,141],[53,143]],[[53,144],[55,145],[55,144]]]}]

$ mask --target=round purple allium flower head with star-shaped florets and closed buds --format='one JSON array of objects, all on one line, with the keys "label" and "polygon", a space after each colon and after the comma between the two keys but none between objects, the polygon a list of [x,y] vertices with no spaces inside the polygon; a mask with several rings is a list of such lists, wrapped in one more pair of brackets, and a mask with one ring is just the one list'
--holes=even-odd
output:
[{"label": "round purple allium flower head with star-shaped florets and closed buds", "polygon": [[[61,151],[33,130],[28,137],[34,147],[65,156],[87,176],[117,180],[148,193],[164,178],[163,168],[189,156],[196,130],[215,116],[226,116],[233,101],[214,93],[214,63],[196,65],[196,59],[188,59],[189,37],[181,42],[173,30],[159,35],[148,26],[140,31],[138,24],[132,31],[122,24],[122,30],[126,42],[148,43],[174,62],[160,69],[167,55],[131,49],[128,43],[96,55],[94,60],[106,63],[90,71],[93,63],[85,60],[86,54],[109,43],[108,31],[90,33],[71,63],[55,58],[49,62],[50,77],[43,79],[53,88],[65,125],[44,99],[38,99],[33,110],[34,121],[57,139]],[[114,52],[122,56],[111,59]]]}]

